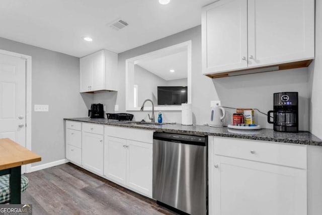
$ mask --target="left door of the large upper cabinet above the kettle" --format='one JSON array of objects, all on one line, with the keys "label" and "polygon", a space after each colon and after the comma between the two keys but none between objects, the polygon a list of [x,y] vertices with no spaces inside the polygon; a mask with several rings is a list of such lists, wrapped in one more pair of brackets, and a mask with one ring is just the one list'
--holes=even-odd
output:
[{"label": "left door of the large upper cabinet above the kettle", "polygon": [[222,0],[203,9],[202,72],[247,68],[247,0]]}]

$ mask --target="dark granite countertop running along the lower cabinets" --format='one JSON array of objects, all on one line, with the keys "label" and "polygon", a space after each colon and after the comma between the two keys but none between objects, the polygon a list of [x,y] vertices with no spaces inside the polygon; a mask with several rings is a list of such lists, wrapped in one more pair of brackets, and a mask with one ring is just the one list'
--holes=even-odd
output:
[{"label": "dark granite countertop running along the lower cabinets", "polygon": [[322,146],[322,140],[314,136],[308,131],[299,131],[298,133],[285,133],[274,131],[273,129],[263,128],[260,130],[237,130],[227,127],[209,127],[206,125],[181,125],[181,124],[130,124],[129,122],[107,120],[107,119],[90,119],[84,118],[64,118],[64,120],[72,120],[79,122],[90,122],[104,125],[115,125],[128,128],[149,129],[160,132],[182,133],[191,135],[212,135],[242,139],[256,139],[263,141],[285,142],[289,144],[301,144],[311,146]]}]

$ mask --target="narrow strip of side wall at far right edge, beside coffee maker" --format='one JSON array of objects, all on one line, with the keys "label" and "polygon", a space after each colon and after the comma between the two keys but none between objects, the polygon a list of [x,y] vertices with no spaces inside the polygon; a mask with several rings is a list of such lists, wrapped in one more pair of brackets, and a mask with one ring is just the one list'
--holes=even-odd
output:
[{"label": "narrow strip of side wall at far right edge, beside coffee maker", "polygon": [[322,2],[315,1],[315,59],[309,66],[310,131],[322,139]]}]

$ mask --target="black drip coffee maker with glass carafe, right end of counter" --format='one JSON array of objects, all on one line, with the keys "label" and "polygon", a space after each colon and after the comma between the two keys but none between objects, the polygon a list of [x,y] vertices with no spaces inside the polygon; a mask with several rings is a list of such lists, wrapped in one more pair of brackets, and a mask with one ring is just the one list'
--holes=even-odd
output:
[{"label": "black drip coffee maker with glass carafe, right end of counter", "polygon": [[[274,110],[267,113],[267,121],[274,124],[275,131],[298,132],[298,93],[274,93]],[[274,113],[274,121],[271,121]]]}]

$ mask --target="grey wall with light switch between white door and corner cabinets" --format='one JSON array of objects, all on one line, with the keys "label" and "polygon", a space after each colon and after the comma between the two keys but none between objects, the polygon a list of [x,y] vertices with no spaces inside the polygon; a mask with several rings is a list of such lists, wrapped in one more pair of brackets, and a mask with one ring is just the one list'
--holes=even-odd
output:
[{"label": "grey wall with light switch between white door and corner cabinets", "polygon": [[4,38],[0,49],[32,57],[32,106],[49,105],[49,112],[32,112],[31,148],[42,159],[32,166],[64,159],[63,118],[85,116],[93,99],[79,94],[79,58]]}]

